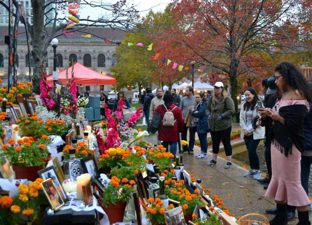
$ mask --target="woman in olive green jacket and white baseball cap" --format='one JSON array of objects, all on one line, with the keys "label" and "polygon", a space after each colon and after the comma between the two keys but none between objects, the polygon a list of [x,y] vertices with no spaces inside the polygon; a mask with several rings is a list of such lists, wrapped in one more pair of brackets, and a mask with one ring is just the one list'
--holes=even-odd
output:
[{"label": "woman in olive green jacket and white baseball cap", "polygon": [[232,115],[235,112],[232,98],[224,90],[222,82],[217,82],[214,86],[212,97],[208,100],[206,114],[208,117],[209,130],[212,139],[212,160],[208,166],[217,164],[217,157],[222,140],[225,154],[227,156],[226,169],[232,168]]}]

